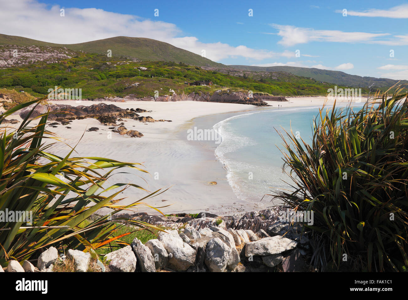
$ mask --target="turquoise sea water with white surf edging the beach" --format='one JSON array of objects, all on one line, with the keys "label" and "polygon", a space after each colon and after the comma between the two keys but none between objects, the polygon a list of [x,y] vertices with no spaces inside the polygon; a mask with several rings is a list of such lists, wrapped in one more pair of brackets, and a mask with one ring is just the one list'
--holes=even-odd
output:
[{"label": "turquoise sea water with white surf edging the beach", "polygon": [[[326,109],[325,109],[326,111]],[[222,136],[215,156],[227,169],[227,179],[242,200],[266,206],[279,204],[265,196],[276,189],[290,189],[290,178],[282,172],[284,130],[298,134],[306,142],[313,135],[313,120],[319,107],[271,109],[233,116],[214,125]],[[276,129],[276,130],[275,130]],[[288,182],[288,183],[286,183]]]}]

